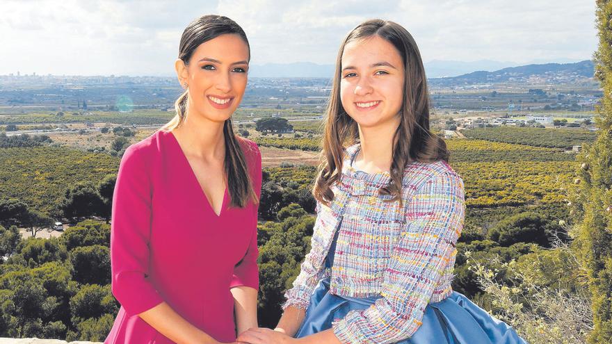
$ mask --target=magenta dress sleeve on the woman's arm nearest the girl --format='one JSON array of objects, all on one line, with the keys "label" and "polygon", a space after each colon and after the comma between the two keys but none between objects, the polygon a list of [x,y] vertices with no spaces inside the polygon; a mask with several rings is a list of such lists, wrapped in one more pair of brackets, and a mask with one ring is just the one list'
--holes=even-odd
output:
[{"label": "magenta dress sleeve on the woman's arm nearest the girl", "polygon": [[[261,197],[261,153],[255,142],[249,142],[247,146],[245,148],[247,150],[245,151],[245,158],[247,159],[253,190],[257,199],[259,199]],[[250,224],[250,227],[252,227],[250,231],[251,239],[245,256],[234,267],[230,288],[248,286],[259,289],[259,268],[257,266],[257,256],[259,256],[259,250],[257,249],[257,209],[259,208],[259,202],[251,206],[253,219]]]}]

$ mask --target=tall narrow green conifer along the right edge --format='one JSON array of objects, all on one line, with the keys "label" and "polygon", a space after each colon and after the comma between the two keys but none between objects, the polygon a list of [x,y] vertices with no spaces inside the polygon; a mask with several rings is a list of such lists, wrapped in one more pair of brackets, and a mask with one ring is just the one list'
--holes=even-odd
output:
[{"label": "tall narrow green conifer along the right edge", "polygon": [[583,145],[578,160],[581,179],[573,195],[572,213],[577,222],[577,252],[588,275],[593,300],[593,331],[589,343],[612,343],[612,2],[596,1],[599,47],[595,52],[595,77],[604,89],[597,108],[599,128],[592,144]]}]

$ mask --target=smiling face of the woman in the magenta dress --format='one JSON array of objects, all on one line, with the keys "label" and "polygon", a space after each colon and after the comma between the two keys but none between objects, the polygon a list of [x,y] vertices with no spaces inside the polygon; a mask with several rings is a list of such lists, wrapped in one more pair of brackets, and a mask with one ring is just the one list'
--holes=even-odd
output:
[{"label": "smiling face of the woman in the magenta dress", "polygon": [[248,60],[247,44],[234,34],[200,44],[186,67],[177,60],[179,81],[188,86],[189,112],[213,122],[230,118],[244,95]]}]

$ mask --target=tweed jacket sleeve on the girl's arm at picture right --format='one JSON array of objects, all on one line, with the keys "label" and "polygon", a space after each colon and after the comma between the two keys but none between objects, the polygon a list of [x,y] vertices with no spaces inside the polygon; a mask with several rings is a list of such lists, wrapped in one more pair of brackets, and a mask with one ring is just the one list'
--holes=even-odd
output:
[{"label": "tweed jacket sleeve on the girl's arm at picture right", "polygon": [[383,275],[380,299],[332,324],[341,343],[396,343],[421,325],[442,272],[453,264],[465,216],[463,181],[431,177],[407,205],[405,227]]}]

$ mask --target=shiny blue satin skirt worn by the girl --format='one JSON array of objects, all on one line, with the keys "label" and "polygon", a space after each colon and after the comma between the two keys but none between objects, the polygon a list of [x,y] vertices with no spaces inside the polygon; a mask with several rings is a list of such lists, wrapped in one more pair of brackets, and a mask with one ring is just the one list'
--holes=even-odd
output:
[{"label": "shiny blue satin skirt worn by the girl", "polygon": [[[330,279],[321,283],[310,298],[306,318],[296,334],[302,338],[325,331],[332,321],[341,319],[354,309],[367,309],[378,297],[341,297],[328,293]],[[412,337],[398,344],[524,344],[514,329],[476,306],[460,293],[430,303],[425,308],[422,325]]]}]

